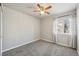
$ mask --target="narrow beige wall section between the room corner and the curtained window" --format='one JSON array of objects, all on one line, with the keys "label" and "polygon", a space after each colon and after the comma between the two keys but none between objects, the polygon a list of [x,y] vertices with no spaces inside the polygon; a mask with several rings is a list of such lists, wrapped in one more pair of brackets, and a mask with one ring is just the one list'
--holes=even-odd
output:
[{"label": "narrow beige wall section between the room corner and the curtained window", "polygon": [[53,42],[53,17],[41,19],[41,39]]}]

